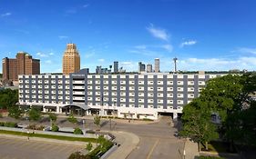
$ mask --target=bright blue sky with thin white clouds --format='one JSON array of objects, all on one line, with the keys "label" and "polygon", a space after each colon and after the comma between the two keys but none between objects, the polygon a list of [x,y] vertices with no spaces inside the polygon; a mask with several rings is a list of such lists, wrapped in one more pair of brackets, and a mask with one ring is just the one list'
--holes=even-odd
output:
[{"label": "bright blue sky with thin white clouds", "polygon": [[[254,0],[0,0],[0,55],[25,51],[41,73],[61,72],[67,43],[81,67],[113,61],[160,70],[256,70]],[[2,70],[2,65],[0,66]]]}]

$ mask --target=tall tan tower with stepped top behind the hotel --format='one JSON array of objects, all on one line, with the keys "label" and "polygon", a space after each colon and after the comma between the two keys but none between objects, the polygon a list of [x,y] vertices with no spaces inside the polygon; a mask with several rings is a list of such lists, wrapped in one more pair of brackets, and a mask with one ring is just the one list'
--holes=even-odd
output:
[{"label": "tall tan tower with stepped top behind the hotel", "polygon": [[64,75],[80,70],[80,55],[75,44],[67,44],[67,49],[63,55],[62,70]]}]

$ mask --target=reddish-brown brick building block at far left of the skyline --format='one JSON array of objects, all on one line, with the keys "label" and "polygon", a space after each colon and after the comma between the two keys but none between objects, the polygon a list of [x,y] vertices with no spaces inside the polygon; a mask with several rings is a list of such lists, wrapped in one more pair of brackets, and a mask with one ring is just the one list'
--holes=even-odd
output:
[{"label": "reddish-brown brick building block at far left of the skyline", "polygon": [[18,75],[39,75],[40,60],[33,59],[26,52],[19,52],[16,58],[5,57],[3,63],[3,79],[17,81]]}]

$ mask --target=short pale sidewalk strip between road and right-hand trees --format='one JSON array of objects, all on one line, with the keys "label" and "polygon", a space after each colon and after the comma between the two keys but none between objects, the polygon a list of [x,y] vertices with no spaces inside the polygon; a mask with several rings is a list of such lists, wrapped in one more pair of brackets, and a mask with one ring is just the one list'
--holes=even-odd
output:
[{"label": "short pale sidewalk strip between road and right-hand trees", "polygon": [[200,156],[197,143],[193,143],[189,140],[186,140],[184,149],[185,149],[184,158],[186,159],[194,159],[195,156]]}]

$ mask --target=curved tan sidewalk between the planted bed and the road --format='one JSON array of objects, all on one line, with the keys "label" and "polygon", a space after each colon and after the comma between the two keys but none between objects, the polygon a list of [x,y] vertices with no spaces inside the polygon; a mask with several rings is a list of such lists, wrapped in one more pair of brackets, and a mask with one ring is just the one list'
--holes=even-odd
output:
[{"label": "curved tan sidewalk between the planted bed and the road", "polygon": [[108,159],[125,159],[138,145],[139,138],[136,134],[128,132],[108,132],[116,136],[115,142],[120,144],[118,149],[108,156]]}]

